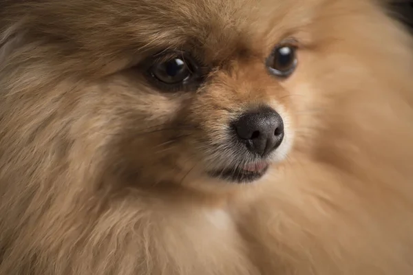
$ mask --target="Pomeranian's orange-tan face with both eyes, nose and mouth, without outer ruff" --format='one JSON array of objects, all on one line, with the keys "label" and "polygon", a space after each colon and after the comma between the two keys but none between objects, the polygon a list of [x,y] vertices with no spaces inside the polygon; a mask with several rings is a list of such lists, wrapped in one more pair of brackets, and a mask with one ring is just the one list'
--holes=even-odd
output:
[{"label": "Pomeranian's orange-tan face with both eyes, nose and mouth, without outer ruff", "polygon": [[[299,41],[277,28],[278,15],[262,18],[265,2],[158,5],[131,3],[136,10],[123,12],[142,41],[134,41],[125,68],[97,85],[107,87],[112,106],[103,109],[116,118],[105,129],[118,125],[109,146],[118,150],[110,154],[118,169],[152,184],[260,179],[293,144],[288,95],[295,91],[286,83],[299,66]],[[128,44],[119,38],[114,45]]]}]

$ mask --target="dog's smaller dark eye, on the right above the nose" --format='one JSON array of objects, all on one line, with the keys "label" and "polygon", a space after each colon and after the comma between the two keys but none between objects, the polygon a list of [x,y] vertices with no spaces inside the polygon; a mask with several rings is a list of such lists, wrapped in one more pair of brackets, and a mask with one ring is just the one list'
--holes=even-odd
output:
[{"label": "dog's smaller dark eye, on the right above the nose", "polygon": [[297,67],[296,47],[293,45],[279,45],[268,57],[266,65],[271,74],[286,78],[293,74]]}]

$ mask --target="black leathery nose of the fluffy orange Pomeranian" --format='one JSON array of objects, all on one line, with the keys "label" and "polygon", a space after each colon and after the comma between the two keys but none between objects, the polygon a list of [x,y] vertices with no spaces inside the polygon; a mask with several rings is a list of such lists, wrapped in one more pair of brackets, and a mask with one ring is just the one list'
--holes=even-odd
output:
[{"label": "black leathery nose of the fluffy orange Pomeranian", "polygon": [[234,126],[237,136],[248,150],[262,156],[275,150],[284,138],[281,115],[270,107],[244,113]]}]

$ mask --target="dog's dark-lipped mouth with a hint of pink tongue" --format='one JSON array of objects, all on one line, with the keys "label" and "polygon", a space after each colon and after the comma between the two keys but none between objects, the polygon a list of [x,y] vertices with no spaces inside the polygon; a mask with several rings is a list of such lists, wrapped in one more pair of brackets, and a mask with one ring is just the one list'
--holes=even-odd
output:
[{"label": "dog's dark-lipped mouth with a hint of pink tongue", "polygon": [[267,162],[246,164],[240,167],[223,168],[209,173],[211,177],[217,177],[236,183],[248,183],[260,179],[268,170]]}]

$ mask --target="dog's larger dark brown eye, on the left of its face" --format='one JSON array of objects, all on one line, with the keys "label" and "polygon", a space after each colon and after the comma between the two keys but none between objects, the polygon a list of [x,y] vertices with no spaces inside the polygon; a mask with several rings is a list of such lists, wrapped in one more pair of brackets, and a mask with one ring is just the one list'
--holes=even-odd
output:
[{"label": "dog's larger dark brown eye, on the left of its face", "polygon": [[182,52],[169,52],[150,58],[147,75],[153,85],[167,91],[194,90],[204,80],[198,62]]}]

